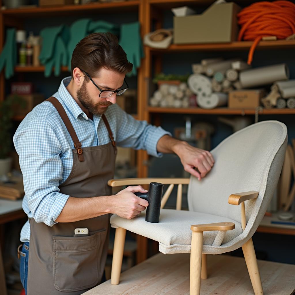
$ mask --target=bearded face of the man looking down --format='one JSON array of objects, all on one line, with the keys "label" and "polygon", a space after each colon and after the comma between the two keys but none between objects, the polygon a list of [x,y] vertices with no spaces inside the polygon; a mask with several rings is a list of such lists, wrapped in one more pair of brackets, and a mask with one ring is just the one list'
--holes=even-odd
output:
[{"label": "bearded face of the man looking down", "polygon": [[[97,77],[91,77],[94,83],[101,90],[117,90],[124,83],[125,74],[120,74],[112,70],[101,68]],[[88,79],[84,79],[82,86],[77,90],[77,97],[81,104],[92,114],[102,115],[111,104],[117,100],[116,93],[109,97],[100,97],[100,91]]]}]

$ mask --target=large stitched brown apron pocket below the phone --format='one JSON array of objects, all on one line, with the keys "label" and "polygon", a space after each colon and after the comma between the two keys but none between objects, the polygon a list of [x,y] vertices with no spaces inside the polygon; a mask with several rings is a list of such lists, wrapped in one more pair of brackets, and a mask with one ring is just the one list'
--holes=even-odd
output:
[{"label": "large stitched brown apron pocket below the phone", "polygon": [[84,237],[53,239],[53,280],[59,291],[80,291],[99,283],[99,257],[106,230]]}]

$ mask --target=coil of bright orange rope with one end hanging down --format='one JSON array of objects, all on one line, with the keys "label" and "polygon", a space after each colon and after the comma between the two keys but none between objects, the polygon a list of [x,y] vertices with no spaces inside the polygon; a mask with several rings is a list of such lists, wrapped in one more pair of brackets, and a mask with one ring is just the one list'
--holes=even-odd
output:
[{"label": "coil of bright orange rope with one end hanging down", "polygon": [[248,54],[248,64],[253,60],[255,47],[264,36],[286,39],[295,34],[295,4],[290,1],[256,2],[238,14],[241,26],[238,41],[254,40]]}]

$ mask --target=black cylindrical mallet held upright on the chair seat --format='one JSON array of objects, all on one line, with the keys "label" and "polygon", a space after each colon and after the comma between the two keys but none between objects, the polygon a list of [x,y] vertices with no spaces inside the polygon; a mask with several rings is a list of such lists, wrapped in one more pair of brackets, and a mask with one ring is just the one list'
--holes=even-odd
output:
[{"label": "black cylindrical mallet held upright on the chair seat", "polygon": [[159,222],[162,194],[163,184],[158,182],[151,182],[147,193],[135,193],[136,196],[148,201],[145,221]]}]

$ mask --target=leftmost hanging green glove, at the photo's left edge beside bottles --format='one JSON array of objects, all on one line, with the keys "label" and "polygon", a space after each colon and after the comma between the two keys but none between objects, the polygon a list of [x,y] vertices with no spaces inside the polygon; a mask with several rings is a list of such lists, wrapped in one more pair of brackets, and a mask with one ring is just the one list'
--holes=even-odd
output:
[{"label": "leftmost hanging green glove, at the photo's left edge beside bottles", "polygon": [[6,30],[6,42],[0,55],[0,71],[5,65],[5,78],[14,75],[14,67],[17,64],[17,47],[15,41],[15,29]]}]

